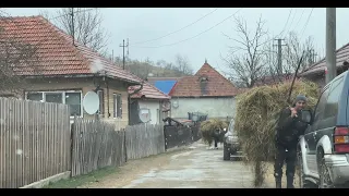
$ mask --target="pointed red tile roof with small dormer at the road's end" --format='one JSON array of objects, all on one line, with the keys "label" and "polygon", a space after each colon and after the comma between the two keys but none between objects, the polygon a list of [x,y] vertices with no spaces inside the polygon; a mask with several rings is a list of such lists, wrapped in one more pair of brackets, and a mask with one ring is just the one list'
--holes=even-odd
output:
[{"label": "pointed red tile roof with small dormer at the road's end", "polygon": [[[200,82],[206,77],[207,82]],[[183,76],[170,91],[171,97],[225,97],[236,96],[238,89],[208,63],[195,75]]]}]

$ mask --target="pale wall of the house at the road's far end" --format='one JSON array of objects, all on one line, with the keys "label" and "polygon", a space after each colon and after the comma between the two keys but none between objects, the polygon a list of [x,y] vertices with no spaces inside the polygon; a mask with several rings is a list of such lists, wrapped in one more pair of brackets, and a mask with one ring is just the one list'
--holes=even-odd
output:
[{"label": "pale wall of the house at the road's far end", "polygon": [[[178,101],[178,108],[173,107]],[[171,99],[171,118],[188,119],[188,112],[208,113],[208,118],[226,119],[236,113],[234,98],[176,98]]]}]

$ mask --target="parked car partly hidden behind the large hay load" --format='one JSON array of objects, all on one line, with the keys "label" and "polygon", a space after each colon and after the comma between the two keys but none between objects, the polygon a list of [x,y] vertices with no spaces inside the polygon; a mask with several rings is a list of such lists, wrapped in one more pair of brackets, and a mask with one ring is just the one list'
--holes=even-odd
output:
[{"label": "parked car partly hidden behind the large hay load", "polygon": [[233,119],[230,121],[227,133],[225,134],[224,138],[224,152],[222,159],[230,160],[231,157],[233,159],[241,158],[242,152],[240,151],[240,145],[238,140],[237,133],[233,132]]}]

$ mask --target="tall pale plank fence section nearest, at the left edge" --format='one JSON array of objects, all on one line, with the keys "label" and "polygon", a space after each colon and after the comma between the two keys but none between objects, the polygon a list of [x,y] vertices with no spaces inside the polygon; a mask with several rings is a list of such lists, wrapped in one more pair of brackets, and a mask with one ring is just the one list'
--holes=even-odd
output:
[{"label": "tall pale plank fence section nearest, at the left edge", "polygon": [[0,98],[0,188],[69,171],[69,115],[67,105]]}]

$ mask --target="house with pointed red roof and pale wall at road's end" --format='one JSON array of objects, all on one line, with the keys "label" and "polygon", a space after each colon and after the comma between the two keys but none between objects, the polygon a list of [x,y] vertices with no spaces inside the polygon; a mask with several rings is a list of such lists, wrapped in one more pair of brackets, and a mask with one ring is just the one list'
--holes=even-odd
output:
[{"label": "house with pointed red roof and pale wall at road's end", "polygon": [[195,75],[181,77],[170,90],[171,118],[188,119],[189,113],[230,119],[236,113],[238,88],[207,61]]}]

